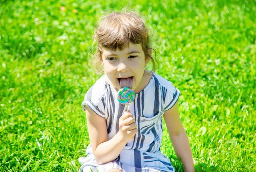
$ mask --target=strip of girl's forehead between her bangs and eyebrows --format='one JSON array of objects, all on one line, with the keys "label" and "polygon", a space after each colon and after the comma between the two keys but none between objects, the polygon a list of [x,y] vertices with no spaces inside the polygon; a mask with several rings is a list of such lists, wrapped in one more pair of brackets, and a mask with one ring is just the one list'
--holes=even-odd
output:
[{"label": "strip of girl's forehead between her bangs and eyebrows", "polygon": [[120,50],[120,49],[110,50],[110,49],[102,47],[102,55],[103,56],[108,56],[108,55],[113,55],[113,54],[117,54],[117,55],[118,54],[128,54],[130,52],[143,53],[141,44],[129,43],[129,45],[126,46],[123,50]]}]

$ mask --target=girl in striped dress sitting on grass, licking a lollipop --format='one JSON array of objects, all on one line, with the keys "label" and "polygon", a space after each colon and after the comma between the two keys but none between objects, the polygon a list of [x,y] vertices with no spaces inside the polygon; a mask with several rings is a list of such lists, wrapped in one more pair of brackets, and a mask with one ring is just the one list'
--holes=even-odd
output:
[{"label": "girl in striped dress sitting on grass, licking a lollipop", "polygon": [[[184,168],[193,172],[193,158],[178,113],[180,92],[159,75],[148,71],[151,57],[148,31],[134,12],[113,12],[95,31],[97,61],[104,75],[88,90],[82,107],[86,113],[90,145],[79,158],[83,172],[174,172],[160,152],[162,116],[175,152]],[[117,100],[121,87],[136,97],[129,110]]]}]

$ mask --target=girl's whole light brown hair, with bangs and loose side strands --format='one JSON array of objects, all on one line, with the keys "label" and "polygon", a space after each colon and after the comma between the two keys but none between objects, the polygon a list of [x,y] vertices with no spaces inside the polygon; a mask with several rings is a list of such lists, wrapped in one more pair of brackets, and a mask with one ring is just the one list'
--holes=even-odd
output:
[{"label": "girl's whole light brown hair, with bangs and loose side strands", "polygon": [[135,12],[112,12],[101,17],[95,30],[95,41],[98,43],[98,49],[94,62],[98,70],[102,61],[102,47],[114,51],[123,50],[132,42],[141,44],[145,57],[152,62],[152,70],[155,71],[155,61],[150,53],[152,48],[150,47],[148,29]]}]

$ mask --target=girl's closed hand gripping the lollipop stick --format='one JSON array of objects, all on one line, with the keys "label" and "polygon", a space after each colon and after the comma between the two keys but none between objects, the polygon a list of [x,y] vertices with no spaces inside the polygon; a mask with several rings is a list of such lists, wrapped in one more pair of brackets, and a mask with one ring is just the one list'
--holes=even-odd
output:
[{"label": "girl's closed hand gripping the lollipop stick", "polygon": [[133,115],[128,112],[124,112],[124,114],[119,119],[119,131],[121,137],[124,140],[130,141],[134,138],[134,135],[138,132],[137,125],[135,123],[135,119]]}]

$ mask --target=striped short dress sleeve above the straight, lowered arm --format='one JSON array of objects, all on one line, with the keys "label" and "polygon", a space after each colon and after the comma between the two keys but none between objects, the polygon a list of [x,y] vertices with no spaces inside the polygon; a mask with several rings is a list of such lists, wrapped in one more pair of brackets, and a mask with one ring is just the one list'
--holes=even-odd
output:
[{"label": "striped short dress sleeve above the straight, lowered arm", "polygon": [[171,109],[176,102],[178,101],[178,98],[180,96],[180,91],[178,89],[176,89],[175,86],[172,85],[171,82],[169,82],[169,84],[165,87],[165,91],[164,92],[164,110],[167,111],[169,109]]}]

